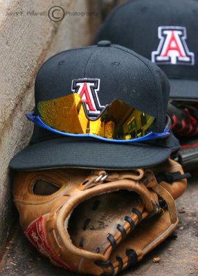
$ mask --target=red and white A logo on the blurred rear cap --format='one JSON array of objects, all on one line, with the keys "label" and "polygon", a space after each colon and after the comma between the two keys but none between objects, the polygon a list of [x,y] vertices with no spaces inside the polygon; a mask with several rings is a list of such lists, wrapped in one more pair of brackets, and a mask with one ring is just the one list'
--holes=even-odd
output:
[{"label": "red and white A logo on the blurred rear cap", "polygon": [[158,49],[152,52],[152,62],[160,64],[195,64],[195,54],[188,50],[185,27],[159,27]]}]

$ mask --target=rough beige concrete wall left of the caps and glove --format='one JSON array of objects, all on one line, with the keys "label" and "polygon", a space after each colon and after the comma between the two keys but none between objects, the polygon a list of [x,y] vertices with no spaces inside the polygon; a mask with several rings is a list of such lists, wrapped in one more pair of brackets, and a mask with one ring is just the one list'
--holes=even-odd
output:
[{"label": "rough beige concrete wall left of the caps and glove", "polygon": [[[53,6],[99,15],[70,15],[54,22],[47,15]],[[0,253],[13,221],[8,164],[28,144],[33,130],[24,113],[34,106],[36,72],[51,55],[87,45],[99,23],[97,0],[0,0]]]}]

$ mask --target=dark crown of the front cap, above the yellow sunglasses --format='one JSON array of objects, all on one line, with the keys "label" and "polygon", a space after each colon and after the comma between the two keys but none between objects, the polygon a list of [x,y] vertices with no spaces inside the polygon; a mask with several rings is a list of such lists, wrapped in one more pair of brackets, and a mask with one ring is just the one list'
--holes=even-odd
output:
[{"label": "dark crown of the front cap, above the yellow sunglasses", "polygon": [[120,99],[154,116],[154,131],[163,131],[168,79],[154,63],[136,52],[103,41],[98,46],[67,50],[51,57],[37,74],[35,104],[83,90],[84,83],[96,96],[98,109]]}]

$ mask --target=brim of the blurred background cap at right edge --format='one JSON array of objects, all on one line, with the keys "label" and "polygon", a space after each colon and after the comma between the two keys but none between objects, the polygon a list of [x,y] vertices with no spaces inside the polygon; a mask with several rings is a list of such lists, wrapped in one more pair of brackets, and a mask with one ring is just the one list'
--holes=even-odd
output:
[{"label": "brim of the blurred background cap at right edge", "polygon": [[198,81],[169,79],[170,99],[198,101]]}]

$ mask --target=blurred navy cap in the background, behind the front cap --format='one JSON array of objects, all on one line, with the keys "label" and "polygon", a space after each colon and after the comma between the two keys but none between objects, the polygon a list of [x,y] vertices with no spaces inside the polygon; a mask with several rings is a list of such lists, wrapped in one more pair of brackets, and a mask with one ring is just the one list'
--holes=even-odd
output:
[{"label": "blurred navy cap in the background, behind the front cap", "polygon": [[198,1],[136,0],[112,10],[93,44],[109,39],[156,63],[170,98],[198,100]]}]

